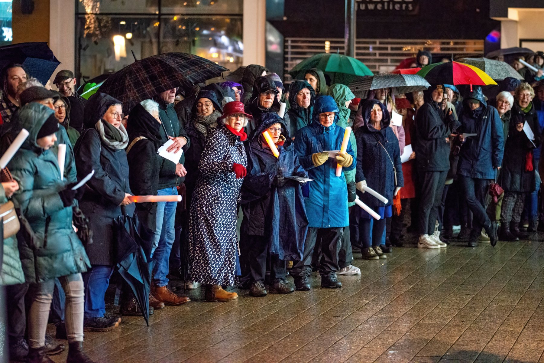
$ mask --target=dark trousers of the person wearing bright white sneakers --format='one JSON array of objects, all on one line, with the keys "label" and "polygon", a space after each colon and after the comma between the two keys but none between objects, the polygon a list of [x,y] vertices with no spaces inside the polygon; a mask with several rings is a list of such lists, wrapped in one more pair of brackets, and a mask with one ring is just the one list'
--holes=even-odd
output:
[{"label": "dark trousers of the person wearing bright white sneakers", "polygon": [[442,202],[442,191],[448,171],[425,171],[419,176],[421,180],[419,235],[432,235],[435,232],[438,207]]}]

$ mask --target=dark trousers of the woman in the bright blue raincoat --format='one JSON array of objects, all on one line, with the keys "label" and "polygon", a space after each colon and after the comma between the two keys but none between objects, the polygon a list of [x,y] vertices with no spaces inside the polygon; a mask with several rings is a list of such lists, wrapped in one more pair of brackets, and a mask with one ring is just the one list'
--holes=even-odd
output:
[{"label": "dark trousers of the woman in the bright blue raincoat", "polygon": [[333,228],[308,228],[304,243],[304,256],[302,260],[295,262],[290,270],[290,275],[305,276],[312,273],[312,255],[316,247],[316,241],[321,244],[321,258],[319,260],[319,274],[324,276],[338,271],[338,251],[341,247],[341,239],[344,227]]}]

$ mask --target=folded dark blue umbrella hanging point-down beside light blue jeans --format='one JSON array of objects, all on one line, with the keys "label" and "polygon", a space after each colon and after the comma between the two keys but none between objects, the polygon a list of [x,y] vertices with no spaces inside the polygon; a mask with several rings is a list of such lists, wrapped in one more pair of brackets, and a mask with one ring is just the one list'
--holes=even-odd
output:
[{"label": "folded dark blue umbrella hanging point-down beside light blue jeans", "polygon": [[117,239],[116,261],[119,274],[131,287],[140,305],[145,322],[149,326],[149,291],[153,231],[134,217],[121,216],[114,220],[114,233]]}]

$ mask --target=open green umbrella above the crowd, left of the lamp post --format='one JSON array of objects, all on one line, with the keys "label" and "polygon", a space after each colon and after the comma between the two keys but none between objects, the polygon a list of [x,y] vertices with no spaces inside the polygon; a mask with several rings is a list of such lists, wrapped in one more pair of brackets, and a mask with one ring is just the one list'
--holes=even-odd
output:
[{"label": "open green umbrella above the crowd, left of the lamp post", "polygon": [[295,65],[287,72],[295,79],[304,79],[306,71],[318,68],[331,77],[332,83],[348,85],[353,79],[362,76],[374,76],[362,61],[343,54],[319,53]]}]

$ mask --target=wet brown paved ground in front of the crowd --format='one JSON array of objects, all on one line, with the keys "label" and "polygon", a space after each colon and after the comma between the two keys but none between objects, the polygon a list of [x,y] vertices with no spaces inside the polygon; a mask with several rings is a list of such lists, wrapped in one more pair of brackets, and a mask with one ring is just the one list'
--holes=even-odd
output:
[{"label": "wet brown paved ground in front of the crowd", "polygon": [[107,363],[544,362],[544,243],[406,246],[386,260],[354,254],[361,275],[339,276],[341,289],[313,275],[311,291],[235,290],[227,303],[190,290],[192,302],[156,311],[149,327],[123,317],[85,333],[85,347]]}]

